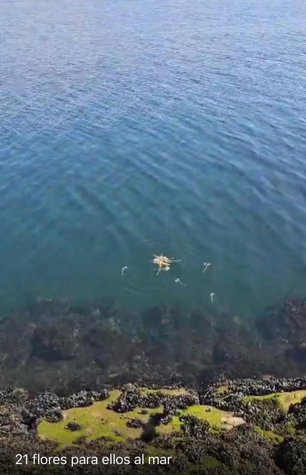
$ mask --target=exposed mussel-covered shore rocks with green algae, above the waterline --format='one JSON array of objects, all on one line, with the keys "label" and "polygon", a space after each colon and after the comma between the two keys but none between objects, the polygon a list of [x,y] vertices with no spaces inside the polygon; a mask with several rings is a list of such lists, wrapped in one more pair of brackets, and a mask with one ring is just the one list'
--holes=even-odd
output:
[{"label": "exposed mussel-covered shore rocks with green algae, above the waterline", "polygon": [[[222,384],[226,391],[216,391]],[[31,397],[20,390],[3,390],[0,401],[5,402],[12,417],[0,411],[1,424],[8,424],[10,428],[1,429],[0,450],[3,460],[8,460],[3,446],[5,440],[10,451],[18,450],[16,453],[21,450],[62,456],[86,450],[89,455],[108,455],[110,451],[120,456],[144,454],[143,471],[130,467],[142,475],[148,473],[145,468],[149,456],[171,457],[173,465],[165,467],[160,474],[170,471],[207,475],[215,471],[223,475],[259,472],[291,475],[288,460],[295,460],[297,450],[300,451],[306,441],[306,399],[290,405],[288,412],[272,399],[276,388],[286,388],[281,394],[288,405],[291,399],[298,399],[297,394],[302,397],[299,391],[303,391],[303,385],[306,387],[306,379],[223,380],[207,386],[205,394],[201,394],[182,385],[163,389],[136,382],[117,389],[80,391],[61,397],[55,393]],[[257,393],[255,400],[250,397],[252,392]],[[211,403],[203,404],[209,395]],[[245,396],[249,398],[244,400]],[[73,404],[77,407],[72,407]],[[33,410],[38,417],[38,437],[35,437],[36,426],[31,422]],[[129,424],[130,421],[137,424]],[[80,430],[67,430],[68,425]],[[21,431],[22,427],[27,429]],[[301,463],[291,464],[295,467],[294,475],[299,475],[298,467],[306,463],[306,450],[299,453]],[[0,466],[1,463],[0,460]],[[98,469],[96,472],[90,467],[90,471],[100,475]],[[120,467],[114,466],[103,467],[103,473],[121,475],[122,472]]]}]

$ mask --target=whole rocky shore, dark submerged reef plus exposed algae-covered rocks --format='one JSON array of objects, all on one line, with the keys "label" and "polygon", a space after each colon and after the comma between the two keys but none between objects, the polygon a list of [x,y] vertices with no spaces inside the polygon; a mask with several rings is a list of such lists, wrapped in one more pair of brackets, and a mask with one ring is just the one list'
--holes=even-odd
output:
[{"label": "whole rocky shore, dark submerged reef plus exposed algae-covered rocks", "polygon": [[[0,320],[1,473],[305,474],[305,374],[306,300],[266,309],[252,327],[36,301]],[[110,451],[172,463],[14,465],[16,454]]]}]

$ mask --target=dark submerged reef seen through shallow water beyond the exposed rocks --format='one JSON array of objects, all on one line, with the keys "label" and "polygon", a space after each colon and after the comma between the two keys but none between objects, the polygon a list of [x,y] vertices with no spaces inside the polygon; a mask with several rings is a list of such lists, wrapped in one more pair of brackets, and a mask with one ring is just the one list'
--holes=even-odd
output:
[{"label": "dark submerged reef seen through shallow water beyond the exposed rocks", "polygon": [[31,392],[99,390],[141,380],[201,388],[228,378],[306,372],[306,300],[238,317],[156,306],[131,314],[112,303],[36,300],[0,320],[0,386]]}]

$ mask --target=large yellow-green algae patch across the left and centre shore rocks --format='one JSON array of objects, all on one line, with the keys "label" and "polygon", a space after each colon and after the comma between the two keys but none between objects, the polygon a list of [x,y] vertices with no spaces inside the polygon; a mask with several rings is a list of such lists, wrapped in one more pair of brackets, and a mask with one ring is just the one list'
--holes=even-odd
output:
[{"label": "large yellow-green algae patch across the left and centre shore rocks", "polygon": [[[188,391],[184,388],[176,389],[159,389],[152,390],[149,388],[141,388],[143,394],[160,394],[171,397],[179,395],[186,395]],[[157,424],[154,419],[158,421],[163,413],[162,406],[156,408],[140,408],[126,411],[124,413],[116,412],[110,409],[110,406],[115,402],[122,392],[120,390],[112,390],[109,398],[103,401],[94,402],[89,407],[72,408],[63,410],[63,420],[59,422],[49,422],[42,420],[38,425],[38,436],[42,439],[53,440],[59,444],[60,447],[75,444],[80,437],[85,437],[86,440],[95,440],[104,437],[109,443],[123,442],[127,439],[142,438],[146,429],[150,424],[154,426],[154,434],[167,435],[171,433],[180,433],[182,430],[182,418],[184,416],[191,416],[198,418],[200,421],[206,421],[208,427],[213,431],[229,430],[235,426],[244,423],[242,418],[234,417],[230,412],[225,412],[220,409],[209,407],[191,405],[186,409],[179,409],[177,414],[172,417],[168,423]],[[129,421],[131,419],[139,419],[142,427],[131,427]],[[80,430],[73,432],[67,431],[67,424],[80,424]],[[153,427],[152,426],[152,427]]]}]

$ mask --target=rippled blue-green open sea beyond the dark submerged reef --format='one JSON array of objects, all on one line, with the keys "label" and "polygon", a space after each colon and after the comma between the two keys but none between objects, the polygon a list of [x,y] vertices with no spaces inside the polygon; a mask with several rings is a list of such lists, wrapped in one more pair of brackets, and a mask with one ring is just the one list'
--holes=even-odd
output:
[{"label": "rippled blue-green open sea beyond the dark submerged reef", "polygon": [[304,1],[0,0],[0,136],[1,311],[306,294]]}]

